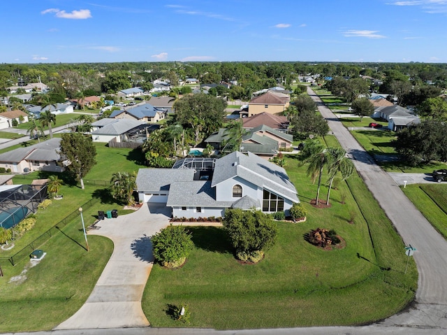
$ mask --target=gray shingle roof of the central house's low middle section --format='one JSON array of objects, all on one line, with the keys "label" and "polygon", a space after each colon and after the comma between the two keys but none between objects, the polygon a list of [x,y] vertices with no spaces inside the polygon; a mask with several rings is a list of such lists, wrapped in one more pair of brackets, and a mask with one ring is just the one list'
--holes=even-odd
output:
[{"label": "gray shingle roof of the central house's low middle section", "polygon": [[230,207],[233,201],[216,201],[210,181],[171,183],[167,206]]}]

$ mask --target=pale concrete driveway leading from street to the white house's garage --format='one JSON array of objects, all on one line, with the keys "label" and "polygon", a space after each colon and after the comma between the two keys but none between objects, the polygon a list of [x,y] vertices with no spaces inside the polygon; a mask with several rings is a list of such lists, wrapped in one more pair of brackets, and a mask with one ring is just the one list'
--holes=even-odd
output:
[{"label": "pale concrete driveway leading from street to the white house's garage", "polygon": [[145,327],[141,298],[152,269],[149,237],[169,224],[166,206],[144,204],[138,211],[96,224],[89,235],[114,243],[112,256],[85,304],[55,329]]}]

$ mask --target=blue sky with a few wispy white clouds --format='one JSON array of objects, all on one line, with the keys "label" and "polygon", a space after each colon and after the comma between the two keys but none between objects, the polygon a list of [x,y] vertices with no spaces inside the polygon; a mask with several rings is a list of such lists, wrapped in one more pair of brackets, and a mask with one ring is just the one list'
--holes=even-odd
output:
[{"label": "blue sky with a few wispy white clouds", "polygon": [[3,0],[0,62],[447,62],[441,0]]}]

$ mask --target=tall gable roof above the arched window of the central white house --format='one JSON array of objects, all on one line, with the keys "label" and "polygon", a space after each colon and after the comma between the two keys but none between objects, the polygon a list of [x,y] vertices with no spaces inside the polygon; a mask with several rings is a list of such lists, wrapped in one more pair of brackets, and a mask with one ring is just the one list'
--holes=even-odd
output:
[{"label": "tall gable roof above the arched window of the central white house", "polygon": [[214,187],[236,176],[258,187],[271,190],[281,197],[298,201],[298,192],[288,179],[286,170],[251,152],[246,156],[242,152],[235,151],[217,159],[211,186]]}]

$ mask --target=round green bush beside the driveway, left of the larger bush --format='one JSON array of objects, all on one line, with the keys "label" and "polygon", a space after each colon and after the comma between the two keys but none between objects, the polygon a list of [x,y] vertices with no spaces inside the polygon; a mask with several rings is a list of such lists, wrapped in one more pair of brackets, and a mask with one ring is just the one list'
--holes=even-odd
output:
[{"label": "round green bush beside the driveway, left of the larger bush", "polygon": [[172,224],[161,229],[151,240],[156,262],[170,269],[182,265],[194,245],[191,234],[184,227]]}]

